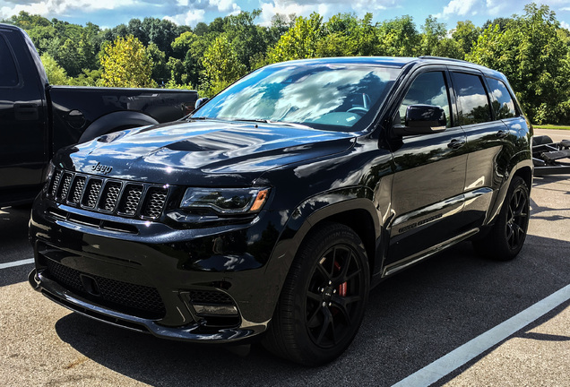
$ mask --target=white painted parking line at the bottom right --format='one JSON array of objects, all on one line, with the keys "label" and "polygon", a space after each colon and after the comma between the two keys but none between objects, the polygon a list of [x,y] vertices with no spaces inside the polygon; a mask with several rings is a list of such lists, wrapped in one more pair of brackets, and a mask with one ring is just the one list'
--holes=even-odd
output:
[{"label": "white painted parking line at the bottom right", "polygon": [[569,299],[570,285],[567,285],[556,293],[531,305],[520,314],[511,317],[505,323],[498,324],[495,328],[454,349],[444,357],[438,358],[435,362],[425,366],[418,372],[410,374],[410,376],[395,383],[393,387],[423,387],[436,383],[445,375],[452,373],[460,366],[478,357],[489,348],[513,335],[516,331],[522,330],[528,324]]}]

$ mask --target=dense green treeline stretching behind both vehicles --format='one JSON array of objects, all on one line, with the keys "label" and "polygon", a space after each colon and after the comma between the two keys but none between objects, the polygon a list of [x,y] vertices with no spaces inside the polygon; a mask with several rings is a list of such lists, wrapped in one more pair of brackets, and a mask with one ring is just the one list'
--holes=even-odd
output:
[{"label": "dense green treeline stretching behind both vehicles", "polygon": [[194,88],[212,96],[245,73],[274,62],[323,56],[447,56],[497,69],[508,77],[535,123],[570,124],[570,31],[546,5],[483,26],[453,30],[429,16],[384,22],[339,13],[328,21],[260,11],[216,18],[194,29],[167,20],[132,19],[113,29],[49,21],[22,12],[7,22],[26,30],[54,84]]}]

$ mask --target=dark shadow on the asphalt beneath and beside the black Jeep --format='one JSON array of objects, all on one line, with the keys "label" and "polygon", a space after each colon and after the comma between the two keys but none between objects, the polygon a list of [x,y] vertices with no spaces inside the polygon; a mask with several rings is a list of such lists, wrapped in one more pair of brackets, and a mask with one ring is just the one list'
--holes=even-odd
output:
[{"label": "dark shadow on the asphalt beneath and beside the black Jeep", "polygon": [[568,284],[570,243],[528,236],[512,262],[464,243],[372,290],[350,348],[308,368],[268,354],[159,340],[78,314],[56,323],[66,343],[102,366],[151,385],[392,385]]}]

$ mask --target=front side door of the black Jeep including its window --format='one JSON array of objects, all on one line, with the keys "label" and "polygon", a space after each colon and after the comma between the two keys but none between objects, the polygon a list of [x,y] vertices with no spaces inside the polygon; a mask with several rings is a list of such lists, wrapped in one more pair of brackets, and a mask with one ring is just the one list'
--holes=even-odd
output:
[{"label": "front side door of the black Jeep including its window", "polygon": [[445,67],[430,66],[412,75],[395,121],[414,104],[442,107],[447,125],[441,133],[404,136],[393,149],[394,219],[386,274],[391,264],[413,260],[456,236],[462,222],[466,137],[453,117],[453,93]]}]

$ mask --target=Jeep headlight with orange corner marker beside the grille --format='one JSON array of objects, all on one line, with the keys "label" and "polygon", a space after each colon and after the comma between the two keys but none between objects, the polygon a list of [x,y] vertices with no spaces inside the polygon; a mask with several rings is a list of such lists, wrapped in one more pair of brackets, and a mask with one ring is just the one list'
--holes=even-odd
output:
[{"label": "Jeep headlight with orange corner marker beside the grille", "polygon": [[269,188],[188,188],[182,208],[209,208],[222,214],[260,211],[269,196]]}]

